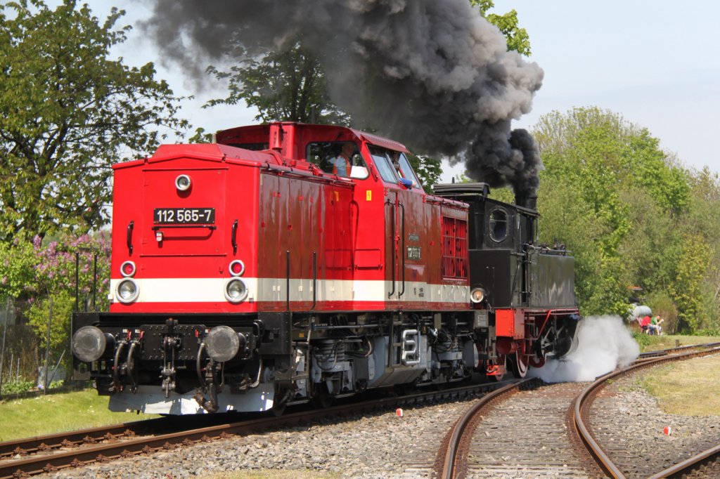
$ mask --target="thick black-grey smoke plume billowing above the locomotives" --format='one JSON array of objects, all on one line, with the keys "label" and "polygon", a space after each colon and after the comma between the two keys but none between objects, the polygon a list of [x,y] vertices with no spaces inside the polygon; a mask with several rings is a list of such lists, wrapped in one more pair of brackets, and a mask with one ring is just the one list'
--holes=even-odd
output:
[{"label": "thick black-grey smoke plume billowing above the locomotives", "polygon": [[197,78],[238,44],[260,54],[300,42],[359,126],[464,161],[491,186],[537,187],[537,149],[510,120],[530,111],[543,72],[468,0],[156,0],[143,27]]}]

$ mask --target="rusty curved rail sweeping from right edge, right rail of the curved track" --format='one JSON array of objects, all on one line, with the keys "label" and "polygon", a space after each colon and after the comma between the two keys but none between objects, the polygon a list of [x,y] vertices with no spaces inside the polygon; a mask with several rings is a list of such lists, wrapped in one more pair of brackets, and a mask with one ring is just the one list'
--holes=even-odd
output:
[{"label": "rusty curved rail sweeping from right edge, right rail of the curved track", "polygon": [[588,452],[590,452],[590,455],[593,456],[595,462],[603,470],[603,473],[606,473],[611,478],[625,478],[625,475],[622,473],[622,471],[600,447],[598,442],[595,441],[595,438],[590,432],[590,428],[585,425],[585,421],[583,421],[582,419],[583,413],[585,412],[585,409],[583,409],[583,407],[592,403],[591,397],[593,393],[596,393],[600,390],[600,388],[603,388],[608,380],[617,378],[621,375],[626,375],[632,371],[639,370],[641,368],[647,368],[652,365],[660,364],[661,362],[687,360],[692,357],[708,355],[714,352],[720,352],[720,347],[717,347],[716,344],[717,343],[712,343],[711,347],[708,347],[708,349],[702,351],[686,352],[677,355],[666,355],[663,357],[658,357],[656,359],[648,359],[642,362],[636,362],[634,365],[629,366],[629,368],[614,371],[613,373],[608,373],[601,376],[600,378],[596,379],[592,384],[590,384],[590,386],[585,388],[585,390],[583,390],[582,393],[577,396],[577,398],[575,398],[573,417],[575,431],[577,432],[577,436],[580,437],[582,443],[585,444],[585,447],[587,448]]}]

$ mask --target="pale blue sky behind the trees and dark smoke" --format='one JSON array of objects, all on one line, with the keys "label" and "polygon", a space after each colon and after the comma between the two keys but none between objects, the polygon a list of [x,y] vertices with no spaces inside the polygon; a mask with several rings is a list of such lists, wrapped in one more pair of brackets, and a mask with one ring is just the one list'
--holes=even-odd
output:
[{"label": "pale blue sky behind the trees and dark smoke", "polygon": [[[54,2],[51,2],[54,3]],[[89,0],[101,17],[112,5],[125,4],[122,24],[148,14],[142,2]],[[496,13],[516,9],[528,31],[531,61],[545,72],[530,114],[513,126],[531,129],[550,111],[599,106],[647,127],[661,147],[683,165],[720,173],[720,150],[714,146],[720,111],[720,2],[688,0],[495,0]],[[193,91],[178,70],[161,67],[161,59],[140,29],[117,50],[126,63],[158,64],[158,75],[176,93],[194,94],[184,102],[186,118],[207,130],[253,122],[243,106],[200,109],[218,91]],[[444,181],[462,168],[446,169]]]}]

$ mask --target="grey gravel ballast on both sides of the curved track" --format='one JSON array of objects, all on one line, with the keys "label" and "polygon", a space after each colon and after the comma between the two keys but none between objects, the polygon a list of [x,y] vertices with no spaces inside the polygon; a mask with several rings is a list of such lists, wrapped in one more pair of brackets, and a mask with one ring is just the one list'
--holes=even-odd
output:
[{"label": "grey gravel ballast on both sides of the curved track", "polygon": [[[641,469],[644,462],[660,470],[678,457],[678,451],[687,450],[689,456],[690,451],[699,452],[720,442],[718,416],[664,414],[657,401],[636,383],[628,378],[608,386],[595,401],[591,415],[596,437],[603,447],[611,444],[617,457],[613,460],[621,468],[632,470],[638,465]],[[402,417],[393,409],[341,422],[322,421],[40,477],[202,478],[272,469],[343,478],[428,478],[447,430],[473,401],[413,406],[403,409]],[[672,428],[669,436],[663,432],[665,426]]]}]

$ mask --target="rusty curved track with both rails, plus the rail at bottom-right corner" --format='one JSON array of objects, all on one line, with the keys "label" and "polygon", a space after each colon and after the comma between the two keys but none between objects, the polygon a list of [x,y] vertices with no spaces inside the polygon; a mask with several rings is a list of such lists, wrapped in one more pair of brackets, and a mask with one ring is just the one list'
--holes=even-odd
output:
[{"label": "rusty curved track with both rails, plus the rail at bottom-right corner", "polygon": [[[658,472],[660,467],[649,469],[652,464],[638,461],[621,447],[608,454],[588,426],[593,399],[608,380],[660,362],[720,352],[719,347],[713,343],[646,353],[630,368],[603,376],[590,386],[559,383],[536,387],[523,381],[490,393],[446,436],[436,456],[436,477],[720,477],[720,446]],[[677,350],[693,351],[671,353]],[[625,461],[616,465],[613,455]],[[624,475],[623,467],[629,475]],[[688,475],[693,470],[698,471],[696,475]]]}]

